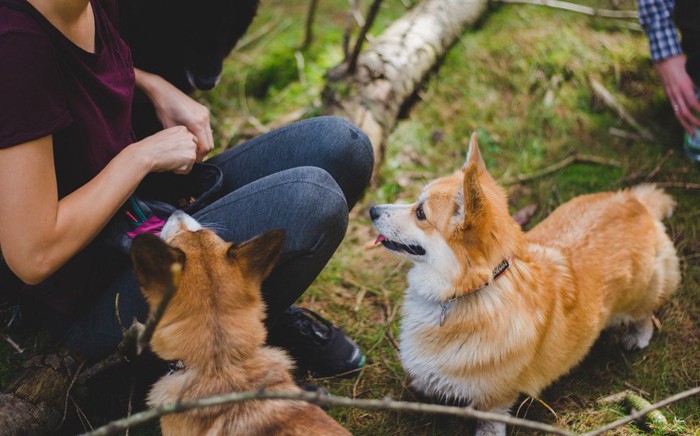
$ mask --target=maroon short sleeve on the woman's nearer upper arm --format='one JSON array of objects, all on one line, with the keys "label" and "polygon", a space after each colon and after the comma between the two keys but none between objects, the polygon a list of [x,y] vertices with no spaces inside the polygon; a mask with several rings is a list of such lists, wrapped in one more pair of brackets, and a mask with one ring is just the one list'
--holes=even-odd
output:
[{"label": "maroon short sleeve on the woman's nearer upper arm", "polygon": [[0,148],[52,134],[72,122],[58,60],[41,30],[8,24],[0,9]]}]

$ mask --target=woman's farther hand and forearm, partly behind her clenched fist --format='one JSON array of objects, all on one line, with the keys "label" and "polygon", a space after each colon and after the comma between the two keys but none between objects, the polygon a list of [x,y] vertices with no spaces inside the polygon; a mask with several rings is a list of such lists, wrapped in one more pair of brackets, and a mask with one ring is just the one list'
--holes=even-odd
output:
[{"label": "woman's farther hand and forearm, partly behind her clenched fist", "polygon": [[162,77],[135,71],[136,84],[153,103],[163,127],[185,126],[197,138],[197,161],[201,162],[214,148],[209,109]]}]

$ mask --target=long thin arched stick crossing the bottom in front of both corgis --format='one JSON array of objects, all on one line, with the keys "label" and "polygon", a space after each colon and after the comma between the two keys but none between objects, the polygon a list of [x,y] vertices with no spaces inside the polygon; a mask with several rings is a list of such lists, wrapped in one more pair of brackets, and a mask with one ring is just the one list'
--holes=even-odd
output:
[{"label": "long thin arched stick crossing the bottom in front of both corgis", "polygon": [[395,401],[390,398],[384,398],[383,400],[370,400],[352,399],[346,397],[324,397],[320,392],[270,392],[259,390],[250,392],[236,392],[217,397],[201,398],[198,400],[166,404],[163,406],[156,407],[154,409],[149,409],[134,414],[130,418],[120,419],[111,422],[103,427],[96,429],[95,431],[86,433],[86,435],[98,436],[115,434],[117,432],[125,430],[128,427],[143,424],[144,422],[147,422],[151,419],[155,419],[163,415],[185,412],[188,410],[202,407],[220,406],[223,404],[239,403],[242,401],[250,400],[297,400],[306,401],[308,403],[316,404],[322,407],[353,407],[366,410],[390,410],[394,412],[433,413],[456,416],[460,418],[475,418],[484,421],[503,422],[508,425],[529,428],[532,430],[538,430],[562,436],[576,435],[576,433],[553,427],[551,425],[534,421],[528,421],[525,419],[513,418],[510,415],[503,415],[500,413],[482,412],[479,410],[472,409],[470,407],[441,406],[438,404]]}]

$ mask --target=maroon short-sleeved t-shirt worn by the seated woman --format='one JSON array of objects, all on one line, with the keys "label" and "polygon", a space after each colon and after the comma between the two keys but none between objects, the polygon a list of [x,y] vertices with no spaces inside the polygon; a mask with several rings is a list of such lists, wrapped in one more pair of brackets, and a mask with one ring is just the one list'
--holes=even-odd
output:
[{"label": "maroon short-sleeved t-shirt worn by the seated woman", "polygon": [[[59,198],[84,185],[134,142],[134,69],[116,30],[115,1],[91,2],[95,53],[90,53],[25,0],[0,0],[0,148],[53,135]],[[95,241],[27,290],[71,311],[104,261],[101,243]]]}]

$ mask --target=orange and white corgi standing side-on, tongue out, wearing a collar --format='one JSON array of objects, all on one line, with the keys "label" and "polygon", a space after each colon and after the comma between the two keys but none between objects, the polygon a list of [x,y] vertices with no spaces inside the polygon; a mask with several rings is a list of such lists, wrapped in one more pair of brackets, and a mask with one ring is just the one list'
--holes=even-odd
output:
[{"label": "orange and white corgi standing side-on, tongue out, wearing a collar", "polygon": [[[601,330],[629,326],[641,349],[652,313],[680,282],[661,220],[673,199],[653,185],[583,195],[524,233],[486,170],[477,137],[461,170],[418,201],[370,210],[381,243],[413,261],[401,361],[420,393],[507,413],[587,354]],[[506,426],[477,422],[477,435]]]}]

